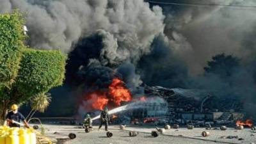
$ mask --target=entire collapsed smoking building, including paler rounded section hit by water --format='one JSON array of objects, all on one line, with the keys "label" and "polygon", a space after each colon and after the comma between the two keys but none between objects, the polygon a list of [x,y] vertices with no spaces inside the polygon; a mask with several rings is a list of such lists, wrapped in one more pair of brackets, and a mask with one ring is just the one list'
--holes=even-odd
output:
[{"label": "entire collapsed smoking building, including paler rounded section hit by water", "polygon": [[143,108],[132,109],[132,118],[144,122],[165,120],[178,124],[228,124],[244,116],[241,113],[243,104],[238,100],[223,99],[204,90],[145,86],[145,95],[161,97],[166,102],[146,104]]}]

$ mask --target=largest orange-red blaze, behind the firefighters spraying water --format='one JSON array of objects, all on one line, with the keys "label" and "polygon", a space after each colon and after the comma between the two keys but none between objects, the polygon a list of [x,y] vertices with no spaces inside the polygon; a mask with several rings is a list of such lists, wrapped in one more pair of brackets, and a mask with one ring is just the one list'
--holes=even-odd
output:
[{"label": "largest orange-red blaze, behind the firefighters spraying water", "polygon": [[108,86],[106,92],[96,91],[86,93],[84,97],[87,110],[102,110],[105,106],[116,107],[120,106],[121,102],[129,102],[132,100],[131,92],[125,87],[124,82],[118,78],[113,79]]}]

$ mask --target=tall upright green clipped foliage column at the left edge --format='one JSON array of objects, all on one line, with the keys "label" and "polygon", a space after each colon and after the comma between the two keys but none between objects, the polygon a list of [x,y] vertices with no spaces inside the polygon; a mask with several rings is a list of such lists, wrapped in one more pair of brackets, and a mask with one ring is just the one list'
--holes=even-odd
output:
[{"label": "tall upright green clipped foliage column at the left edge", "polygon": [[26,36],[20,13],[0,15],[0,87],[10,87],[19,70]]}]

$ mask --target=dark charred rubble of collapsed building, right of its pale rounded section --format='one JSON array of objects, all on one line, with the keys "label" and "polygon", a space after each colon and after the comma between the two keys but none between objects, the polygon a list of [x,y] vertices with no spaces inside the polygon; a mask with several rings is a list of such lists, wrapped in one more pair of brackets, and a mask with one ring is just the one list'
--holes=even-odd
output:
[{"label": "dark charred rubble of collapsed building, right of its pale rounded section", "polygon": [[[145,94],[157,95],[167,102],[169,120],[186,124],[191,121],[234,122],[243,118],[241,102],[220,99],[203,90],[182,88],[163,88],[161,86],[145,86]],[[220,106],[223,100],[225,106]],[[222,101],[222,102],[223,102]]]}]

